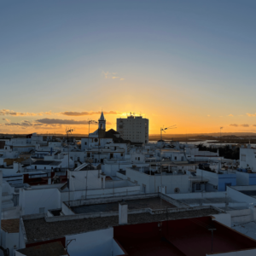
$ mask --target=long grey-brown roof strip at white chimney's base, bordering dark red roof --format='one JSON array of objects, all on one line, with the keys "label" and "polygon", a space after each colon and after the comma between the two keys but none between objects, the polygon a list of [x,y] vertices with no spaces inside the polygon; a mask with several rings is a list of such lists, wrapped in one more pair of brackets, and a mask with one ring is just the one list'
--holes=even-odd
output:
[{"label": "long grey-brown roof strip at white chimney's base, bordering dark red roof", "polygon": [[[143,224],[159,222],[163,220],[180,218],[197,218],[218,214],[212,207],[188,210],[183,212],[168,212],[161,214],[151,214],[149,212],[128,214],[128,224]],[[47,222],[45,218],[23,219],[27,241],[33,243],[60,238],[67,235],[85,233],[93,230],[104,230],[109,227],[119,226],[119,216],[68,219],[63,221]]]}]

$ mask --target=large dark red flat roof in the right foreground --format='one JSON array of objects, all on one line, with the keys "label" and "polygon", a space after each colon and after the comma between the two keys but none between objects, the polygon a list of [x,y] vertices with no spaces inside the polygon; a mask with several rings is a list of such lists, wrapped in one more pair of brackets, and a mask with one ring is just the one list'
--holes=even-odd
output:
[{"label": "large dark red flat roof in the right foreground", "polygon": [[[212,233],[214,230],[213,247]],[[256,241],[210,217],[114,227],[114,239],[129,255],[206,256],[255,249]],[[250,253],[255,253],[250,252]],[[219,255],[220,255],[219,254]],[[237,255],[240,253],[237,253]],[[242,255],[242,252],[241,252]]]}]

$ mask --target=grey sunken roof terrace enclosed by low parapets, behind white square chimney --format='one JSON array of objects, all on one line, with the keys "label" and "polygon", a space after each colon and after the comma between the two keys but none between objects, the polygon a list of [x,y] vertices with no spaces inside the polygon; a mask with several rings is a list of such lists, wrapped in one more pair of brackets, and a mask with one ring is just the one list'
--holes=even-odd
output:
[{"label": "grey sunken roof terrace enclosed by low parapets, behind white square chimney", "polygon": [[[160,197],[152,197],[145,199],[136,200],[126,200],[128,204],[128,210],[138,210],[144,208],[150,208],[152,210],[157,210],[161,208],[176,208],[170,202],[160,199]],[[73,212],[77,214],[81,213],[92,213],[92,212],[118,212],[119,211],[119,201],[112,203],[101,203],[93,205],[84,205],[79,207],[71,207]]]}]

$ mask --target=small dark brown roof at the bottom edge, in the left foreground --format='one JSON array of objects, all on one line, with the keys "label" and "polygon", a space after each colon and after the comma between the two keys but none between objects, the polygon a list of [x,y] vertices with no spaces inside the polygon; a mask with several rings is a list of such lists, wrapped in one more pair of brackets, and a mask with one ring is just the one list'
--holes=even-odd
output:
[{"label": "small dark brown roof at the bottom edge, in the left foreground", "polygon": [[61,244],[61,241],[41,244],[34,247],[26,247],[25,249],[18,250],[26,256],[64,256],[67,255],[66,250]]}]

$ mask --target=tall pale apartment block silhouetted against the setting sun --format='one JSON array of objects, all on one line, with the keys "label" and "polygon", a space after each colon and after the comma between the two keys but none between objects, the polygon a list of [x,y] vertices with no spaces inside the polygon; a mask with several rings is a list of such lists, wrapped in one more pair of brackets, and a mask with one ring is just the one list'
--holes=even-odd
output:
[{"label": "tall pale apartment block silhouetted against the setting sun", "polygon": [[130,115],[127,119],[117,119],[116,130],[120,137],[132,143],[148,143],[148,119]]}]

